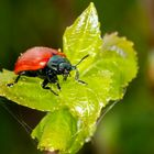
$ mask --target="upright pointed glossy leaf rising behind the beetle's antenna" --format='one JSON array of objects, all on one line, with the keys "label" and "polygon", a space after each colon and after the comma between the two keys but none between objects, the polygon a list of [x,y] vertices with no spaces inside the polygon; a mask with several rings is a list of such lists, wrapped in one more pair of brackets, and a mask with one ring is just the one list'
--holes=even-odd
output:
[{"label": "upright pointed glossy leaf rising behind the beetle's antenna", "polygon": [[84,62],[85,64],[80,64],[82,66],[81,70],[91,64],[96,54],[100,51],[102,40],[99,26],[97,10],[91,2],[64,33],[63,51],[73,64],[78,63],[85,55],[90,55],[88,61]]}]

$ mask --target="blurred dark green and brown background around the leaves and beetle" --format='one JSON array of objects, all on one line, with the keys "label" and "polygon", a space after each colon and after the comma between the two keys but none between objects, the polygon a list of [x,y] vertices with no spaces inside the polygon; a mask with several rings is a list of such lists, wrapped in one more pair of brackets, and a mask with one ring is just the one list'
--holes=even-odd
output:
[{"label": "blurred dark green and brown background around the leaves and beetle", "polygon": [[[65,28],[89,0],[0,0],[0,67],[13,69],[21,52],[32,46],[62,47]],[[106,114],[92,141],[78,154],[154,153],[154,1],[94,0],[102,35],[119,32],[134,42],[139,74],[122,101]],[[103,95],[103,94],[102,94]],[[0,100],[0,154],[41,154],[25,129],[40,113]],[[7,101],[7,103],[6,103]],[[7,107],[10,114],[3,107]],[[21,117],[21,116],[20,116]]]}]

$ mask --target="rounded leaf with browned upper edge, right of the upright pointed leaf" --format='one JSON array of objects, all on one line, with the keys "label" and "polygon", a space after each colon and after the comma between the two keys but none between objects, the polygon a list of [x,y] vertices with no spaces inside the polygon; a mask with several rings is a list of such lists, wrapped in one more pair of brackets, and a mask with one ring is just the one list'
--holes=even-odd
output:
[{"label": "rounded leaf with browned upper edge, right of the upright pointed leaf", "polygon": [[[101,48],[102,69],[113,73],[110,97],[113,100],[122,98],[123,88],[136,76],[138,59],[133,43],[118,33],[107,34]],[[100,58],[100,57],[99,57]]]}]

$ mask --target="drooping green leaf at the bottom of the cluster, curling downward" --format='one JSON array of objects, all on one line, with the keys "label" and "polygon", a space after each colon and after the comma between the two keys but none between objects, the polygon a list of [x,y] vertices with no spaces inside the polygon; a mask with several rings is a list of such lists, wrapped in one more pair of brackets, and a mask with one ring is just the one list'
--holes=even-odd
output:
[{"label": "drooping green leaf at the bottom of the cluster, curling downward", "polygon": [[48,112],[32,133],[38,140],[38,148],[44,151],[67,150],[77,134],[77,120],[67,109]]}]

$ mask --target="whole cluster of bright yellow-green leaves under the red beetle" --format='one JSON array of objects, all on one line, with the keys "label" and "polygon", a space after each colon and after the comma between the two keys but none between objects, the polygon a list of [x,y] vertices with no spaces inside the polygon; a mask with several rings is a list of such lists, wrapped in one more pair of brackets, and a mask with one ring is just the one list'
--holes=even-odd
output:
[{"label": "whole cluster of bright yellow-green leaves under the red beetle", "polygon": [[100,37],[99,22],[94,3],[67,28],[64,52],[73,64],[89,55],[79,66],[80,79],[75,73],[67,81],[59,78],[62,90],[55,96],[41,87],[42,79],[22,76],[16,85],[8,87],[16,77],[12,72],[0,74],[0,96],[19,105],[48,111],[32,132],[38,148],[76,153],[95,133],[97,121],[110,101],[122,99],[128,84],[136,76],[138,63],[133,44],[116,33]]}]

